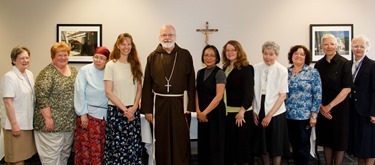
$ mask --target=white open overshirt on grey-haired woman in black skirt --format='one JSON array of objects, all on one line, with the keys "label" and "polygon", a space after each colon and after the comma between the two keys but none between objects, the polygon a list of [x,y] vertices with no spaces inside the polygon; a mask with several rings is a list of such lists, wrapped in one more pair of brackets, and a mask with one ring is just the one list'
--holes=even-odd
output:
[{"label": "white open overshirt on grey-haired woman in black skirt", "polygon": [[[268,68],[267,91],[265,98],[264,111],[265,115],[271,110],[280,93],[288,93],[288,70],[277,61],[268,66],[264,62],[254,65],[254,112],[259,115],[262,99],[262,74]],[[286,111],[285,103],[276,111],[273,116],[277,116]]]}]

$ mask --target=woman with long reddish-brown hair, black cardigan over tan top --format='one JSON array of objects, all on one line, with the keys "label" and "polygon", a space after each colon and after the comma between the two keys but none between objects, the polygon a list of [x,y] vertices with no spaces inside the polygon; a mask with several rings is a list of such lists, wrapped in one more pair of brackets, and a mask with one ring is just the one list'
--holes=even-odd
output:
[{"label": "woman with long reddish-brown hair, black cardigan over tan top", "polygon": [[227,77],[224,100],[225,164],[253,164],[251,103],[254,97],[254,68],[238,41],[230,40],[222,52],[223,70]]}]

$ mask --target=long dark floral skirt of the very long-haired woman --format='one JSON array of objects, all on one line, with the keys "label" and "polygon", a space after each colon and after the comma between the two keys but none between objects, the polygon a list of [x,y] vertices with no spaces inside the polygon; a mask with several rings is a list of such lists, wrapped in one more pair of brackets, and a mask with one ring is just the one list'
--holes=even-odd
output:
[{"label": "long dark floral skirt of the very long-haired woman", "polygon": [[142,164],[141,120],[128,121],[118,107],[108,105],[104,164]]}]

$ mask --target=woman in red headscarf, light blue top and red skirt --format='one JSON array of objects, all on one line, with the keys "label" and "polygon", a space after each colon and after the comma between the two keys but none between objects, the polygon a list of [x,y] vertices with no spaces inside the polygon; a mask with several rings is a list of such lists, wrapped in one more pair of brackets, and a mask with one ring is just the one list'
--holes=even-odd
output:
[{"label": "woman in red headscarf, light blue top and red skirt", "polygon": [[83,66],[74,84],[74,108],[77,122],[74,131],[74,164],[102,164],[108,98],[104,91],[104,67],[109,50],[99,47],[94,61]]}]

